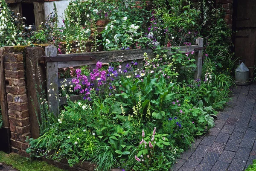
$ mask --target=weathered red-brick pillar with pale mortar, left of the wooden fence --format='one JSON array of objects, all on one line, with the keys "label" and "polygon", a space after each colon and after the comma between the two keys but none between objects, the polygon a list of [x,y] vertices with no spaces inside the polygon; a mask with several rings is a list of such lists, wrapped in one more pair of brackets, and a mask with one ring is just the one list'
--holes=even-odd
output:
[{"label": "weathered red-brick pillar with pale mortar, left of the wooden fence", "polygon": [[30,137],[28,98],[24,78],[23,54],[14,54],[11,48],[6,47],[4,53],[6,93],[8,114],[11,131],[12,152],[28,156],[25,142]]}]

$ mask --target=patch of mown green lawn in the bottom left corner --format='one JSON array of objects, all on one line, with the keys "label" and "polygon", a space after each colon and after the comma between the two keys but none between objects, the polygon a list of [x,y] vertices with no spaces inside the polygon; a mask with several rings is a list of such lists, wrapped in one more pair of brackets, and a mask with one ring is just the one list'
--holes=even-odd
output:
[{"label": "patch of mown green lawn in the bottom left corner", "polygon": [[49,165],[47,162],[21,157],[15,153],[6,154],[3,151],[0,151],[0,162],[10,165],[19,171],[64,171],[63,169]]}]

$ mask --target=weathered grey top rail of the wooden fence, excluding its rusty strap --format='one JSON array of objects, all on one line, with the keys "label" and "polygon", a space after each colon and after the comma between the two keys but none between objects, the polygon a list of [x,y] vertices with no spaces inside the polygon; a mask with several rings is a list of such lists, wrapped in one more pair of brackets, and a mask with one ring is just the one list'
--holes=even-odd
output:
[{"label": "weathered grey top rail of the wooden fence, excluding its rusty strap", "polygon": [[[198,48],[198,45],[192,46],[178,46],[175,48],[179,48],[176,51],[182,51],[183,53],[192,52],[195,48]],[[174,52],[171,51],[173,47],[168,47],[165,49],[170,50],[167,52],[167,55],[172,55]],[[119,62],[119,61],[129,61],[129,60],[137,60],[143,59],[144,53],[148,54],[148,57],[153,57],[155,54],[151,49],[131,49],[131,50],[118,50],[118,51],[102,51],[102,52],[87,52],[87,53],[77,53],[77,54],[60,54],[61,56],[76,56],[76,55],[95,55],[96,59],[93,61],[63,61],[58,62],[58,68],[66,68],[66,67],[78,67],[84,65],[93,65],[98,61],[102,63],[110,63],[110,62]]]}]

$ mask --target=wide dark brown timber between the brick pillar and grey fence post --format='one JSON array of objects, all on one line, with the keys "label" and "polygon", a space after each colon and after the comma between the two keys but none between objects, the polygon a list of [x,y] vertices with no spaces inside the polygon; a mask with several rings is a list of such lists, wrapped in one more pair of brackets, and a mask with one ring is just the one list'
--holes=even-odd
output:
[{"label": "wide dark brown timber between the brick pillar and grey fence post", "polygon": [[41,104],[38,102],[37,93],[42,91],[40,85],[43,89],[46,87],[44,81],[46,79],[45,64],[38,64],[38,60],[44,55],[44,49],[41,47],[26,47],[25,54],[30,133],[32,138],[37,139],[40,135],[38,119],[41,122]]}]

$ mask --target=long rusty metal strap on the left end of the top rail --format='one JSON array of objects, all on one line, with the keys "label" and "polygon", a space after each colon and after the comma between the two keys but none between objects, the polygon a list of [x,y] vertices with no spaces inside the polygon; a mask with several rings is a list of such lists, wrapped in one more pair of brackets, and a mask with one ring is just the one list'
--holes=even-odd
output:
[{"label": "long rusty metal strap on the left end of the top rail", "polygon": [[80,55],[80,56],[55,56],[41,57],[41,61],[45,62],[62,62],[62,61],[90,61],[95,60],[95,55]]}]

